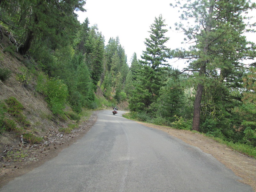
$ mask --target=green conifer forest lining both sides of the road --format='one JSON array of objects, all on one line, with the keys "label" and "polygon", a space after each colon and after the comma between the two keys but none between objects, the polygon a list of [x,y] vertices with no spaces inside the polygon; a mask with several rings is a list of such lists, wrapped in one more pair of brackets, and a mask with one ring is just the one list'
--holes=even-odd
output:
[{"label": "green conifer forest lining both sides of the road", "polygon": [[[184,4],[183,4],[183,3]],[[77,20],[85,0],[0,0],[0,34],[8,31],[12,46],[4,51],[27,58],[19,80],[45,96],[54,115],[69,105],[79,115],[97,109],[101,89],[111,108],[129,103],[129,118],[176,129],[194,130],[247,148],[256,154],[255,32],[247,13],[248,0],[195,0],[170,4],[180,9],[176,30],[184,33],[187,50],[165,46],[170,37],[162,15],[152,21],[146,50],[127,58],[119,37],[106,40],[97,25]],[[192,19],[193,22],[188,20]],[[170,58],[187,59],[188,67],[173,68]],[[127,59],[131,60],[128,66]],[[248,62],[249,61],[249,62]],[[0,65],[4,82],[10,70]],[[0,132],[7,129],[1,101]],[[249,153],[249,152],[248,152]]]}]

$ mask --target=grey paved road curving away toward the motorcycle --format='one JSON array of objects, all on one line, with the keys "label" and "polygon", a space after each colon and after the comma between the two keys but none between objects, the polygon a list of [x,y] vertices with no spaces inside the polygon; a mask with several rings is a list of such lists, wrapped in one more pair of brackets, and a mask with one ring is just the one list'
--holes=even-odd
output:
[{"label": "grey paved road curving away toward the motorcycle", "polygon": [[211,155],[122,113],[100,111],[82,139],[0,191],[253,191]]}]

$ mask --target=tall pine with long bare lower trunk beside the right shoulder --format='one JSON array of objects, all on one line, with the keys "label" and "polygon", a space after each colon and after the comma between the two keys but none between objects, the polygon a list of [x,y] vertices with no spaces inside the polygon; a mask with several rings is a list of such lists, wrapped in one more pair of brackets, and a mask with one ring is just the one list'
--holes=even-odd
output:
[{"label": "tall pine with long bare lower trunk beside the right shoulder", "polygon": [[204,86],[213,77],[219,79],[219,84],[238,85],[239,82],[235,81],[241,77],[241,60],[254,55],[254,44],[247,42],[243,35],[246,24],[242,14],[255,7],[255,4],[250,5],[250,1],[245,0],[196,0],[186,1],[181,7],[185,11],[180,18],[193,18],[195,25],[184,26],[181,22],[176,26],[194,45],[188,51],[176,51],[173,56],[193,59],[188,70],[196,72],[194,74],[198,79],[193,116],[193,129],[198,131]]}]

